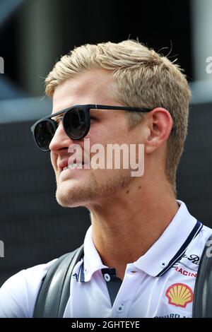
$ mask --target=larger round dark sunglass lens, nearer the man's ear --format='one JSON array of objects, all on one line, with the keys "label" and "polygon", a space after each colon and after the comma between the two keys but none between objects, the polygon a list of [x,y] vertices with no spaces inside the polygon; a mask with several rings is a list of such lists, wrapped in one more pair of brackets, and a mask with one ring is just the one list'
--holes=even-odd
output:
[{"label": "larger round dark sunglass lens, nearer the man's ear", "polygon": [[64,115],[64,129],[69,137],[73,139],[82,138],[87,129],[86,112],[78,107],[66,112]]}]

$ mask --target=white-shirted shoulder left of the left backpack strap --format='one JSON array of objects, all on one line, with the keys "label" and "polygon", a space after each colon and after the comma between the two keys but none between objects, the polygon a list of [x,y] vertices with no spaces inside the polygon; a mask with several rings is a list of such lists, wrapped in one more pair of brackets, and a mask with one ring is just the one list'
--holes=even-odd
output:
[{"label": "white-shirted shoulder left of the left backpack strap", "polygon": [[33,316],[42,278],[45,277],[55,261],[57,259],[27,268],[6,280],[0,288],[1,318],[27,318]]}]

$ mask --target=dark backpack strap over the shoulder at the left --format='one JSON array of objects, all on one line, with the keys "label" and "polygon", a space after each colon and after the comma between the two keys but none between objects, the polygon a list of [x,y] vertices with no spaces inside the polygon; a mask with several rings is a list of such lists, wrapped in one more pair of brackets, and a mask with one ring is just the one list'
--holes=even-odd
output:
[{"label": "dark backpack strap over the shoulder at the left", "polygon": [[65,254],[49,268],[37,295],[33,317],[62,317],[70,296],[74,266],[83,257],[83,245]]}]

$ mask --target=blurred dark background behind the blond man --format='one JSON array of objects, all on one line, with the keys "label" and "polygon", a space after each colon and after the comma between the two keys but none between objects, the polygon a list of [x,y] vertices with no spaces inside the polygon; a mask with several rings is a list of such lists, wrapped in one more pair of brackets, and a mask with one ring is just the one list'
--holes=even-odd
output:
[{"label": "blurred dark background behind the blond man", "polygon": [[30,134],[49,114],[44,78],[69,50],[85,43],[139,38],[182,66],[192,88],[177,198],[212,226],[212,1],[0,0],[0,285],[22,268],[50,261],[83,242],[85,208],[61,208],[49,154]]}]

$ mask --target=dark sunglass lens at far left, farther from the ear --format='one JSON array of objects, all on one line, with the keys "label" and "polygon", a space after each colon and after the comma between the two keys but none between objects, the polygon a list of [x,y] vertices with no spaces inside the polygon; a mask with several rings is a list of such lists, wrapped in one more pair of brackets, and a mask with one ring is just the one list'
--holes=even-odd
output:
[{"label": "dark sunglass lens at far left, farther from the ear", "polygon": [[52,121],[41,121],[35,126],[35,141],[42,150],[49,150],[49,144],[55,133]]}]

